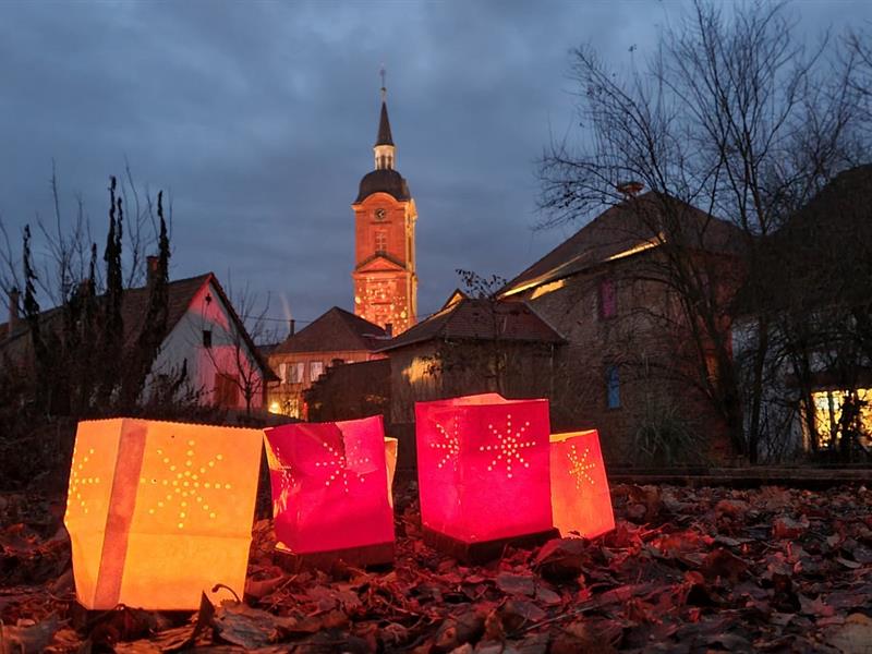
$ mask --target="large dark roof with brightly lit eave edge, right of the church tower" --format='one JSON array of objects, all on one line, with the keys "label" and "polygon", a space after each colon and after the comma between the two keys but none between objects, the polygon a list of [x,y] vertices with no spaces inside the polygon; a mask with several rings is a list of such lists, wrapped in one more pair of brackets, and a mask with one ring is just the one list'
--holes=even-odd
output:
[{"label": "large dark roof with brightly lit eave edge, right of the church tower", "polygon": [[678,238],[690,247],[711,252],[735,253],[740,246],[740,232],[729,222],[674,197],[649,192],[602,213],[509,281],[501,293],[511,294],[569,277],[655,247],[661,239]]}]

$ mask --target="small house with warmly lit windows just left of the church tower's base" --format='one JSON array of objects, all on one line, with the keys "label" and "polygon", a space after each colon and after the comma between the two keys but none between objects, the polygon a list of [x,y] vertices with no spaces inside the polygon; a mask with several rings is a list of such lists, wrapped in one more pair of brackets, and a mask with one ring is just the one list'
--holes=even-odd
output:
[{"label": "small house with warmly lit windows just left of the church tower's base", "polygon": [[267,392],[269,411],[306,417],[304,393],[329,366],[383,359],[377,350],[389,338],[378,325],[334,306],[269,351],[278,373]]}]

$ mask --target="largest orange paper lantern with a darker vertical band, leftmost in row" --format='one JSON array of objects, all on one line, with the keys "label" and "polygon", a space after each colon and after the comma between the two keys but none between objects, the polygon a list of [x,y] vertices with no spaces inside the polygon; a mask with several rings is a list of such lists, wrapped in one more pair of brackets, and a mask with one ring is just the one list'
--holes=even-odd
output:
[{"label": "largest orange paper lantern with a darker vertical band, leftmost in row", "polygon": [[170,422],[78,423],[64,523],[80,604],[195,609],[217,583],[241,595],[262,438]]}]

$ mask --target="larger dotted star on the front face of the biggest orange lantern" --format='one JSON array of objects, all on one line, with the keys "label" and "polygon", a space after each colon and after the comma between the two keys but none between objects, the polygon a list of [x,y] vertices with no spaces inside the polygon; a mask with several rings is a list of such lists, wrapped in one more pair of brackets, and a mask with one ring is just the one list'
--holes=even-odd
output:
[{"label": "larger dotted star on the front face of the biggest orange lantern", "polygon": [[[216,491],[230,491],[229,483],[220,481],[211,481],[215,479],[215,468],[222,461],[222,455],[215,455],[203,465],[196,465],[194,459],[196,450],[194,449],[196,441],[193,439],[187,441],[187,448],[184,452],[184,461],[177,463],[170,457],[170,452],[158,448],[157,456],[164,464],[166,476],[160,477],[141,477],[141,485],[152,485],[160,487],[160,491],[166,494],[161,499],[158,499],[155,506],[148,507],[148,513],[154,516],[162,510],[172,510],[177,513],[179,529],[184,529],[186,524],[194,518],[192,511],[196,507],[203,514],[207,516],[210,520],[215,520],[215,507],[209,505],[210,498],[216,498]],[[170,509],[170,507],[172,507]]]}]

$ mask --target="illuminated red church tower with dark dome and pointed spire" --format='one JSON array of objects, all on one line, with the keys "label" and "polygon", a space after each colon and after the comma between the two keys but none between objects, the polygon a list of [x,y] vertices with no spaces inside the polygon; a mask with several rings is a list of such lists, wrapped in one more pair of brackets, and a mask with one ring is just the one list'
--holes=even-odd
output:
[{"label": "illuminated red church tower with dark dome and pointed spire", "polygon": [[382,114],[373,148],[375,170],[361,180],[354,209],[354,313],[396,336],[415,324],[415,202],[395,169],[396,152],[382,85]]}]

